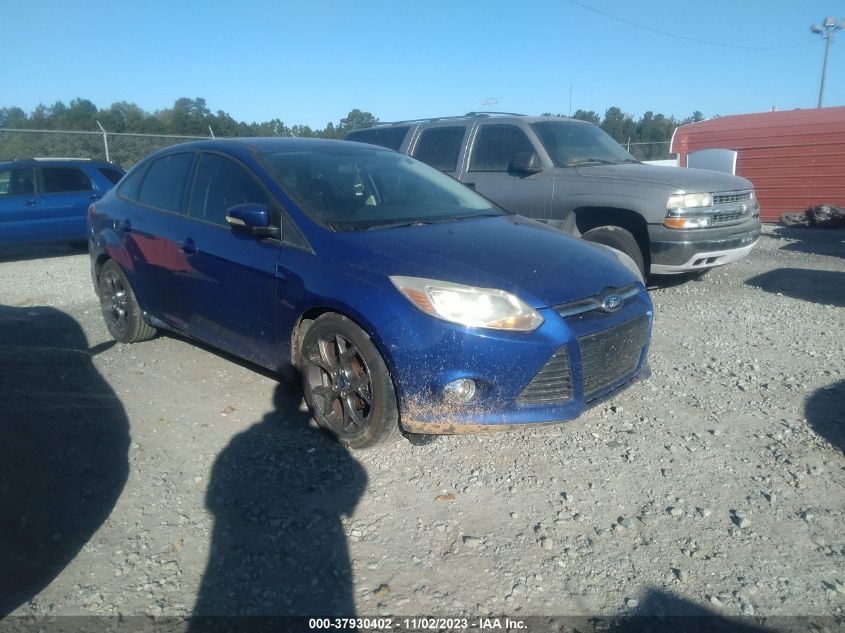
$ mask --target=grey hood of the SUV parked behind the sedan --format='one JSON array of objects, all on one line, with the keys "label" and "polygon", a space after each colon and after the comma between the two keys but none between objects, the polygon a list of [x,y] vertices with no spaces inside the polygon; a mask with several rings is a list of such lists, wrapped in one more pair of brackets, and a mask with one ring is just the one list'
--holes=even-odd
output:
[{"label": "grey hood of the SUV parked behind the sedan", "polygon": [[[570,169],[573,169],[570,167]],[[670,189],[683,189],[687,193],[705,191],[737,191],[751,189],[750,180],[741,176],[723,174],[709,169],[663,167],[641,163],[620,165],[580,165],[574,167],[581,176],[588,178],[612,178],[631,180],[638,183],[650,182]]]}]

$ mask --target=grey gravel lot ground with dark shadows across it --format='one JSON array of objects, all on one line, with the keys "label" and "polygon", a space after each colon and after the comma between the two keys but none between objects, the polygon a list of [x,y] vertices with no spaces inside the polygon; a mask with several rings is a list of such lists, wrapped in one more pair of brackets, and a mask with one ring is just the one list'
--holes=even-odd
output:
[{"label": "grey gravel lot ground with dark shadows across it", "polygon": [[112,344],[87,254],[6,252],[0,615],[845,617],[843,240],[654,288],[653,377],[575,422],[357,452],[253,366]]}]

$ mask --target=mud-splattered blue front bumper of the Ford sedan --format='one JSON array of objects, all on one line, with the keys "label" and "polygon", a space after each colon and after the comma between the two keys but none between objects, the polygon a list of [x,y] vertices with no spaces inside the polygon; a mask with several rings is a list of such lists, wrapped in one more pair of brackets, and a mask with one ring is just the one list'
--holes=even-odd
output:
[{"label": "mud-splattered blue front bumper of the Ford sedan", "polygon": [[[394,378],[402,427],[412,433],[456,434],[563,422],[649,375],[646,355],[652,312],[644,288],[615,314],[563,318],[552,308],[541,313],[543,325],[529,333],[473,330],[418,311],[380,328],[377,344]],[[579,341],[643,318],[647,325],[642,347],[629,356],[635,366],[620,364],[624,375],[585,394],[590,368],[585,370],[582,363]],[[526,387],[562,350],[568,354],[571,372],[568,397],[527,402]],[[611,348],[606,354],[609,363],[614,362],[613,353]],[[629,367],[633,368],[628,371]],[[445,385],[459,378],[476,383],[477,395],[467,404],[443,397]]]}]

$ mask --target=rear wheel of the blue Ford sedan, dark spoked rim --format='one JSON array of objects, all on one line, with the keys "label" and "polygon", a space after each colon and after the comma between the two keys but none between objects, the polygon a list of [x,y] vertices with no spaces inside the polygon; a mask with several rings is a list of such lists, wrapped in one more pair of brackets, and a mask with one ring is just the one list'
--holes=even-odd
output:
[{"label": "rear wheel of the blue Ford sedan, dark spoked rim", "polygon": [[110,259],[97,277],[100,310],[109,333],[120,343],[139,343],[153,338],[156,330],[146,321],[123,269]]}]

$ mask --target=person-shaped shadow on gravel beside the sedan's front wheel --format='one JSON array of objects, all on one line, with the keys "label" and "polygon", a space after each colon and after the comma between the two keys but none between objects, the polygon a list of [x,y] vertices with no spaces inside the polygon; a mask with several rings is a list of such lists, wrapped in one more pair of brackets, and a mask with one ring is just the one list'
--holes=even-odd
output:
[{"label": "person-shaped shadow on gravel beside the sedan's front wheel", "polygon": [[194,630],[214,624],[203,616],[355,613],[344,517],[367,476],[308,425],[301,398],[297,385],[280,383],[273,411],[214,463],[206,497],[214,528]]}]

